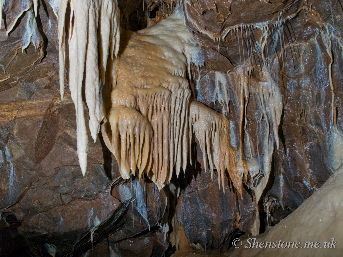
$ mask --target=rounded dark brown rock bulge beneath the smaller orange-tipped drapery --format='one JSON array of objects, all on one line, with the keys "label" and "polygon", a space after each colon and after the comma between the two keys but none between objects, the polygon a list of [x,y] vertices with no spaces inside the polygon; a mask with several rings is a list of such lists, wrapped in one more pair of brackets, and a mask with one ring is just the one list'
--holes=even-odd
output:
[{"label": "rounded dark brown rock bulge beneath the smaller orange-tipped drapery", "polygon": [[176,218],[182,223],[190,242],[226,252],[231,246],[232,237],[239,230],[250,232],[256,215],[255,203],[246,191],[243,200],[238,199],[232,184],[228,185],[227,182],[225,193],[219,191],[217,174],[213,175],[211,181],[210,173],[203,171],[194,174],[181,194]]}]

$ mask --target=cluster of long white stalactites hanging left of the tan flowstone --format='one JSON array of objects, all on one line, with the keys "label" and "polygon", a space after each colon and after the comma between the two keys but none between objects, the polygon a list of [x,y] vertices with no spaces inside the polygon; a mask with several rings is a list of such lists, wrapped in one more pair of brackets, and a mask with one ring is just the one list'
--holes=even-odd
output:
[{"label": "cluster of long white stalactites hanging left of the tan flowstone", "polygon": [[[55,2],[51,2],[55,5]],[[79,162],[84,175],[87,166],[88,136],[82,102],[82,81],[85,72],[85,96],[90,115],[90,131],[94,142],[100,130],[100,78],[98,41],[100,41],[101,73],[104,78],[108,54],[117,56],[119,49],[119,8],[115,0],[59,0],[58,38],[60,92],[63,100],[64,68],[66,66],[66,10],[70,4],[69,23],[69,88],[76,110]],[[56,9],[56,6],[54,6]],[[100,38],[97,31],[100,30]]]}]

